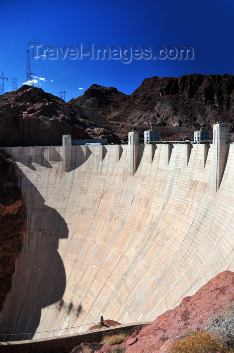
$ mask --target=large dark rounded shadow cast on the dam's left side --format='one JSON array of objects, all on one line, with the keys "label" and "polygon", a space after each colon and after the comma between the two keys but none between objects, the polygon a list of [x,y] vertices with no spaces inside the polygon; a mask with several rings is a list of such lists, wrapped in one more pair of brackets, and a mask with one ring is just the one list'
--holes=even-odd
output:
[{"label": "large dark rounded shadow cast on the dam's left side", "polygon": [[57,310],[61,310],[66,285],[65,269],[57,251],[59,239],[68,237],[66,222],[54,208],[44,203],[39,191],[24,174],[22,182],[27,184],[25,201],[31,212],[27,216],[26,236],[15,273],[17,301],[9,303],[4,323],[0,324],[1,340],[6,333],[22,333],[8,335],[7,340],[28,339],[29,335],[24,335],[26,332],[31,332],[32,338],[43,317],[43,308],[59,302]]}]

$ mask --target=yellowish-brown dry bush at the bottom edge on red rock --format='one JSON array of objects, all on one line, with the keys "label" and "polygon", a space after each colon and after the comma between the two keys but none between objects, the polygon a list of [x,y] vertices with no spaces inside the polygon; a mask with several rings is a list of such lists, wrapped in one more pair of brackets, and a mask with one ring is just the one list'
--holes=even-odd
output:
[{"label": "yellowish-brown dry bush at the bottom edge on red rock", "polygon": [[208,331],[198,331],[182,339],[178,339],[169,348],[169,353],[210,353],[218,351],[227,353],[223,340]]}]

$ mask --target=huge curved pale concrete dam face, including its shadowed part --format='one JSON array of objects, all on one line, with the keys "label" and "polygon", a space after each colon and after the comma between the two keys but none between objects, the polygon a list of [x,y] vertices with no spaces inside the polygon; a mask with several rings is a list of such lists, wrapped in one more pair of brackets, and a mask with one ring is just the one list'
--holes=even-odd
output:
[{"label": "huge curved pale concrete dam face, including its shadowed part", "polygon": [[27,233],[1,332],[154,320],[233,271],[234,145],[217,143],[9,148]]}]

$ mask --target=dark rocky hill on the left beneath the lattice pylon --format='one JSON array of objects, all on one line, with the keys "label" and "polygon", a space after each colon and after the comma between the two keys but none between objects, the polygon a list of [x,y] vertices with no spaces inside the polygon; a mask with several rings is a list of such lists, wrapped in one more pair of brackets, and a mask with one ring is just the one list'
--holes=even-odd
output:
[{"label": "dark rocky hill on the left beneath the lattice pylon", "polygon": [[0,96],[0,146],[61,145],[63,134],[118,143],[110,125],[92,109],[65,103],[41,88],[25,85]]}]

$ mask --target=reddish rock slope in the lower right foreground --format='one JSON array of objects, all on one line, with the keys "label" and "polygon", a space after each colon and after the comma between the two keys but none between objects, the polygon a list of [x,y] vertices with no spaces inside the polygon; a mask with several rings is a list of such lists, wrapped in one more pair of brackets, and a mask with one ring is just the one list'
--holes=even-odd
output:
[{"label": "reddish rock slope in the lower right foreground", "polygon": [[[119,347],[125,348],[125,353],[166,352],[176,337],[183,336],[187,330],[203,329],[208,318],[223,313],[230,301],[234,301],[234,273],[224,271],[203,285],[194,296],[185,297],[178,307],[133,334],[131,337],[136,338],[133,344],[128,345],[125,341]],[[105,346],[95,353],[104,351],[109,353],[111,347]]]}]

